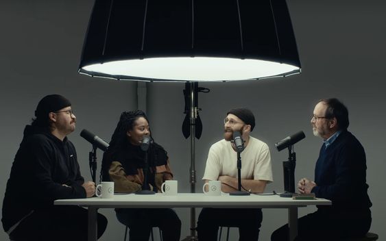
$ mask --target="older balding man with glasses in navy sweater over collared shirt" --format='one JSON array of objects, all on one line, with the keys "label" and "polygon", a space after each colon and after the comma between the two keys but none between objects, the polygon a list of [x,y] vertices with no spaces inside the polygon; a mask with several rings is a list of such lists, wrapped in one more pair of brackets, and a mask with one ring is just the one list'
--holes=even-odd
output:
[{"label": "older balding man with glasses in navy sweater over collared shirt", "polygon": [[[298,219],[295,240],[362,240],[372,222],[367,194],[366,155],[348,130],[348,110],[338,99],[322,99],[311,115],[314,136],[323,139],[315,165],[315,181],[302,178],[300,193],[329,199],[331,206]],[[289,240],[288,225],[276,229],[271,240]]]}]

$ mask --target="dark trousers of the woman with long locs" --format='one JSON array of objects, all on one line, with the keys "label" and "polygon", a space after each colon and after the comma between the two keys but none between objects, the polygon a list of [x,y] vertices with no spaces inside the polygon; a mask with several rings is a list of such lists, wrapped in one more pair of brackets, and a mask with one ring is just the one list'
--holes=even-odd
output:
[{"label": "dark trousers of the woman with long locs", "polygon": [[130,241],[149,240],[153,227],[162,231],[162,240],[180,240],[181,220],[170,208],[124,208],[115,211],[119,222],[129,227]]}]

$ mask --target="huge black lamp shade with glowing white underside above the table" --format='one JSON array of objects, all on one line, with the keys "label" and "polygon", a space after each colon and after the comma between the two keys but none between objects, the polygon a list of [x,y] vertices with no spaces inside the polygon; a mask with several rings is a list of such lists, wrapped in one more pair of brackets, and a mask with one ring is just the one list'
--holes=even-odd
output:
[{"label": "huge black lamp shade with glowing white underside above the table", "polygon": [[285,0],[96,0],[79,72],[235,81],[300,69]]}]

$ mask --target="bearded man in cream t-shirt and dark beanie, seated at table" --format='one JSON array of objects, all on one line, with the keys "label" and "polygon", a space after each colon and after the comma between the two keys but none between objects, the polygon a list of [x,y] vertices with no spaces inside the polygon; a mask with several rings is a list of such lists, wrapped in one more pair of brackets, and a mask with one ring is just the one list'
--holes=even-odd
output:
[{"label": "bearded man in cream t-shirt and dark beanie, seated at table", "polygon": [[[222,192],[238,190],[237,151],[231,142],[234,131],[240,131],[245,141],[241,152],[241,186],[252,193],[264,192],[267,183],[272,182],[271,156],[267,144],[250,136],[255,119],[245,108],[232,109],[224,119],[224,140],[209,149],[204,177],[221,181]],[[261,209],[203,208],[197,222],[198,240],[215,241],[219,227],[238,227],[239,240],[258,240],[263,214]]]}]

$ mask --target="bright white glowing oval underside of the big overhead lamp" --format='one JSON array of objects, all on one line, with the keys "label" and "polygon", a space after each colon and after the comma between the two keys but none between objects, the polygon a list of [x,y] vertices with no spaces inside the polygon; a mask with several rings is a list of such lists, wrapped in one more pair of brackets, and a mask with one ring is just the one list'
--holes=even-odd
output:
[{"label": "bright white glowing oval underside of the big overhead lamp", "polygon": [[298,66],[232,58],[148,58],[92,64],[84,70],[116,76],[185,81],[232,81],[283,75]]}]

